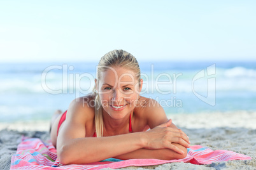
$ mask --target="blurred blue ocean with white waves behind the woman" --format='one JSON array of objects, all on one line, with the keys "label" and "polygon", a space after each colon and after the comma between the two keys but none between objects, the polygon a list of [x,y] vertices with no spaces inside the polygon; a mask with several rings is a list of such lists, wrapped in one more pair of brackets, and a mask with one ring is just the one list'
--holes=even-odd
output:
[{"label": "blurred blue ocean with white waves behind the woman", "polygon": [[[97,62],[0,63],[0,122],[49,120],[92,91]],[[256,62],[140,62],[167,115],[256,110]],[[242,115],[241,115],[242,116]]]}]

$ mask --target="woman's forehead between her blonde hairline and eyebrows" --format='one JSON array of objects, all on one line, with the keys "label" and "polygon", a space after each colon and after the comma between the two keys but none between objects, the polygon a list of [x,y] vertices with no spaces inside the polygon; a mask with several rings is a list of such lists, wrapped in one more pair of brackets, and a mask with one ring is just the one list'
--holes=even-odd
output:
[{"label": "woman's forehead between her blonde hairline and eyebrows", "polygon": [[104,72],[101,72],[101,80],[103,83],[115,83],[115,82],[136,82],[135,72],[131,69],[125,69],[122,67],[111,67]]}]

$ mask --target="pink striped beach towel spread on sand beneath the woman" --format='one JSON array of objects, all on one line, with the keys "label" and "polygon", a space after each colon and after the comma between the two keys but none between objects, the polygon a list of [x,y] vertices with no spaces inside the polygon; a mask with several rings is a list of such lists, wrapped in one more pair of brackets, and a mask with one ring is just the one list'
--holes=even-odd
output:
[{"label": "pink striped beach towel spread on sand beneath the woman", "polygon": [[159,159],[106,159],[91,164],[71,164],[62,166],[57,159],[56,150],[50,141],[44,142],[39,138],[22,138],[18,145],[17,153],[11,157],[11,169],[102,169],[121,168],[128,166],[153,166],[171,162],[187,162],[191,164],[211,164],[227,160],[251,159],[243,154],[229,150],[211,150],[201,145],[188,148],[185,159],[159,160]]}]

